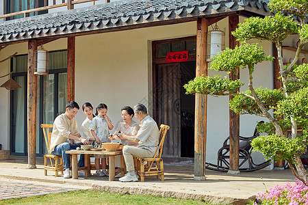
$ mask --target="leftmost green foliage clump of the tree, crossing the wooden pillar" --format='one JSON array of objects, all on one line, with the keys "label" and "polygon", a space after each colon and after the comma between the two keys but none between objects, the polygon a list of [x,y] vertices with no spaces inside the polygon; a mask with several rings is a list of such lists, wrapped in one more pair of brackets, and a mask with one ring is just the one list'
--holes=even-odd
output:
[{"label": "leftmost green foliage clump of the tree, crossing the wooden pillar", "polygon": [[196,77],[188,84],[184,85],[186,94],[223,94],[224,92],[236,92],[238,87],[241,87],[244,83],[240,80],[230,81],[227,77],[221,79],[219,75],[214,77]]}]

